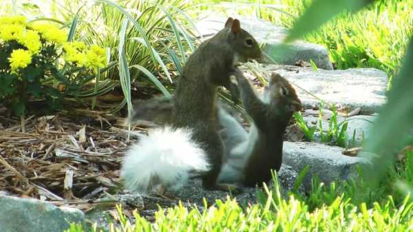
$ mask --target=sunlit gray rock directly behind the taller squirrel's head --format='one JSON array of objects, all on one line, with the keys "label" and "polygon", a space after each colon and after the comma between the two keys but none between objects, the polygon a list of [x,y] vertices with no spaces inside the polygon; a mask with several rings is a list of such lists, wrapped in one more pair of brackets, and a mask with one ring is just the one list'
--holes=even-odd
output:
[{"label": "sunlit gray rock directly behind the taller squirrel's head", "polygon": [[[211,36],[224,27],[226,18],[209,17],[196,23],[199,34]],[[297,41],[280,48],[288,30],[260,19],[240,19],[241,27],[252,34],[258,43],[264,44],[264,53],[271,57],[267,62],[284,65],[295,65],[297,61],[314,61],[317,67],[332,70],[332,64],[326,48],[314,43]],[[271,61],[272,60],[272,61]]]}]

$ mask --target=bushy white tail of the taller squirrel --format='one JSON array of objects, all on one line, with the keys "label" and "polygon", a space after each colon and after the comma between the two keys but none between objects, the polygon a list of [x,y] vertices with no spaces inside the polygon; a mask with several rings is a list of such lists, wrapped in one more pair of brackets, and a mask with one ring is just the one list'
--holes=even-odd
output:
[{"label": "bushy white tail of the taller squirrel", "polygon": [[193,141],[191,129],[160,127],[127,151],[121,175],[126,189],[148,193],[156,187],[177,190],[187,183],[190,172],[208,170],[207,155]]}]

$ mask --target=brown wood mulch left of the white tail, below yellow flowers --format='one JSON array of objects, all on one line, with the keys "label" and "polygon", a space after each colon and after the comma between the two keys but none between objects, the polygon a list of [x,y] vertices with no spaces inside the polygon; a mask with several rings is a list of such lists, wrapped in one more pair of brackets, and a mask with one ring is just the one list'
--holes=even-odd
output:
[{"label": "brown wood mulch left of the white tail, below yellow flowers", "polygon": [[23,129],[20,118],[0,115],[0,195],[88,210],[98,198],[121,191],[120,165],[129,144],[123,118],[73,113],[28,116]]}]

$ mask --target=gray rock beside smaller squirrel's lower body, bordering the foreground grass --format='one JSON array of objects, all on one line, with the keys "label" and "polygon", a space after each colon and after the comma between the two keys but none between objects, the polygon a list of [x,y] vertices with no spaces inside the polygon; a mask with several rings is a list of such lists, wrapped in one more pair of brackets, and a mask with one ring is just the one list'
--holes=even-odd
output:
[{"label": "gray rock beside smaller squirrel's lower body, bordering the foreground grass", "polygon": [[310,167],[304,187],[311,188],[311,176],[318,176],[321,182],[329,185],[334,180],[348,180],[355,175],[357,165],[368,165],[360,157],[344,156],[343,148],[319,143],[284,142],[283,162],[293,167],[298,173],[308,165]]}]

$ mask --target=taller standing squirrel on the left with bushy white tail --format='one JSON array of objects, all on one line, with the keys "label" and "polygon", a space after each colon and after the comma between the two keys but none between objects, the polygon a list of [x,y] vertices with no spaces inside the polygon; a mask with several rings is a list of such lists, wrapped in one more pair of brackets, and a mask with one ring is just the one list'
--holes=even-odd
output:
[{"label": "taller standing squirrel on the left with bushy white tail", "polygon": [[149,131],[127,152],[122,167],[125,187],[138,192],[178,189],[195,172],[201,174],[204,187],[229,190],[229,185],[217,184],[224,156],[218,133],[218,86],[231,87],[235,63],[261,56],[257,41],[237,19],[229,18],[224,29],[201,43],[189,56],[167,103],[172,112],[166,123],[171,126]]}]

